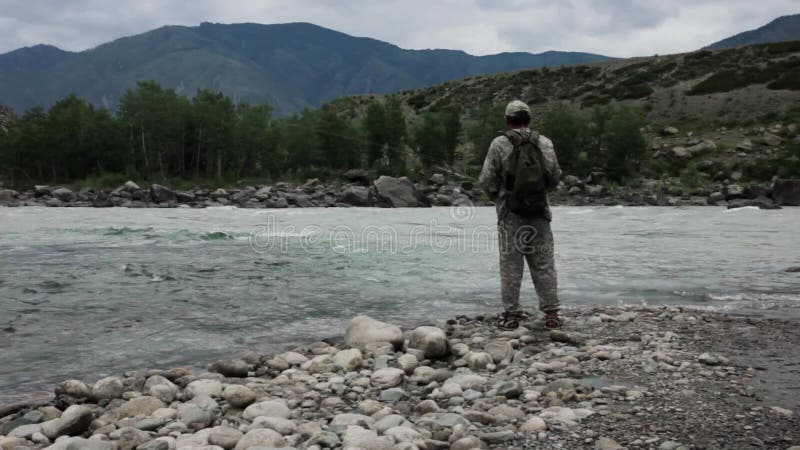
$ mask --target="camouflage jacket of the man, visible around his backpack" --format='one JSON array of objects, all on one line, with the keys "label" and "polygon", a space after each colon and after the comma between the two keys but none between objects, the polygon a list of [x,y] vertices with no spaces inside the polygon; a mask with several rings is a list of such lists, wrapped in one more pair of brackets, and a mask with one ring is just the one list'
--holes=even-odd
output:
[{"label": "camouflage jacket of the man, visible around his backpack", "polygon": [[[523,137],[527,137],[530,135],[531,130],[528,128],[520,128],[512,130],[512,133],[520,133]],[[555,190],[561,178],[561,168],[558,166],[558,159],[556,158],[556,152],[553,148],[553,141],[539,135],[539,149],[541,149],[542,156],[544,156],[548,189],[551,191]],[[514,150],[514,146],[507,137],[496,137],[489,146],[489,152],[486,154],[486,160],[483,162],[483,170],[481,170],[481,186],[483,186],[486,195],[496,202],[497,216],[500,218],[505,217],[508,213],[508,205],[505,201],[506,190],[504,174],[505,167],[508,165],[508,157],[511,155],[512,150]],[[547,219],[550,219],[549,210]]]}]

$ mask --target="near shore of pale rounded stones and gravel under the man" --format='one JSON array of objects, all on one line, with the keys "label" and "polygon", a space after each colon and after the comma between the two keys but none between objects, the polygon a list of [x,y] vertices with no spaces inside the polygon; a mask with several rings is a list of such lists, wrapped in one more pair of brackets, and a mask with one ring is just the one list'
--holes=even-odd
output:
[{"label": "near shore of pale rounded stones and gravel under the man", "polygon": [[[142,370],[0,409],[0,448],[792,449],[797,323],[677,308],[492,317]],[[768,363],[764,361],[769,360]],[[3,417],[4,416],[4,417]]]}]

